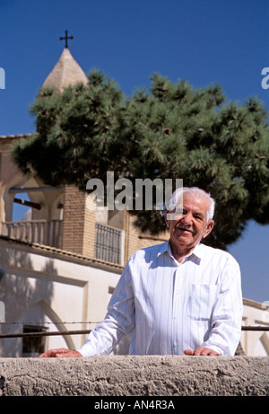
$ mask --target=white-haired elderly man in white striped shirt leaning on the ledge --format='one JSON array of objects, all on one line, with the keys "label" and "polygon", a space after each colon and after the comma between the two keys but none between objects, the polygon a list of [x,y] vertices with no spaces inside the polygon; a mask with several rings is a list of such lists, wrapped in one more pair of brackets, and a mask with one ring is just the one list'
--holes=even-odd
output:
[{"label": "white-haired elderly man in white striped shirt leaning on the ledge", "polygon": [[166,216],[169,241],[136,251],[82,348],[40,357],[108,355],[131,334],[132,355],[234,355],[242,295],[239,265],[201,243],[213,229],[214,201],[202,189],[178,189]]}]

